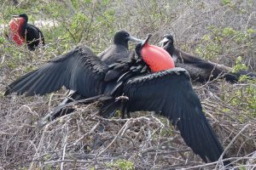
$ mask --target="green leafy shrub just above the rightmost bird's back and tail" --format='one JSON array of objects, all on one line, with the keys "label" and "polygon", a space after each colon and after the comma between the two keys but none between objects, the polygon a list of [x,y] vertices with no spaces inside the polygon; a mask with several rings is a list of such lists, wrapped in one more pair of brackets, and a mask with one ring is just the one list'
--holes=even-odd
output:
[{"label": "green leafy shrub just above the rightmost bird's back and tail", "polygon": [[[243,56],[243,50],[234,51],[232,47],[251,48],[253,44],[254,30],[251,28],[247,31],[236,31],[232,27],[209,26],[207,30],[209,33],[201,38],[200,44],[195,48],[195,54],[205,59],[217,61],[222,54],[234,55],[234,57]],[[240,54],[235,53],[239,51]]]}]

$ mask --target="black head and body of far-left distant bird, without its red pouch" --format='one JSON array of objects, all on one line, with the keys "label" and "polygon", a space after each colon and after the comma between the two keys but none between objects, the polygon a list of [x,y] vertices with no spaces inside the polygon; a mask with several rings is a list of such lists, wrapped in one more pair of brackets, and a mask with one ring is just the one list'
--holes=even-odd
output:
[{"label": "black head and body of far-left distant bird, without its red pouch", "polygon": [[35,50],[40,43],[45,45],[43,32],[37,26],[28,23],[27,15],[20,14],[17,17],[25,20],[21,26],[20,37],[23,37],[26,40],[28,49]]}]

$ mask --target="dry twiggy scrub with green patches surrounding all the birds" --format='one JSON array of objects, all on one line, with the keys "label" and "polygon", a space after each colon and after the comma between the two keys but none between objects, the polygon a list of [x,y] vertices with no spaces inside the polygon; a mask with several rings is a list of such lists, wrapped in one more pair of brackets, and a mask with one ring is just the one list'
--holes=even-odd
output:
[{"label": "dry twiggy scrub with green patches surrounding all the birds", "polygon": [[[134,113],[131,119],[103,119],[96,104],[76,105],[71,115],[41,126],[65,91],[30,98],[3,93],[15,78],[79,43],[101,52],[119,29],[141,38],[150,32],[154,44],[172,33],[177,47],[190,54],[255,71],[255,1],[20,0],[15,7],[1,0],[0,8],[0,169],[222,168],[221,160],[206,164],[195,156],[164,117]],[[4,37],[10,14],[21,13],[32,22],[55,23],[41,27],[46,47],[30,52]],[[230,160],[255,169],[255,81],[193,85]]]}]

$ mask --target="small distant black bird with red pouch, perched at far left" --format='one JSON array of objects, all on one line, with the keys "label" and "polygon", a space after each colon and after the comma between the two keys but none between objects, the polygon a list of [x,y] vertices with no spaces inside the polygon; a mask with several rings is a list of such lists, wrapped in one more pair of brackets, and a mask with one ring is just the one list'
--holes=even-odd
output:
[{"label": "small distant black bird with red pouch, perched at far left", "polygon": [[15,18],[9,22],[9,38],[17,45],[26,42],[28,49],[34,50],[41,43],[44,45],[44,35],[38,27],[27,23],[26,14],[14,16]]}]

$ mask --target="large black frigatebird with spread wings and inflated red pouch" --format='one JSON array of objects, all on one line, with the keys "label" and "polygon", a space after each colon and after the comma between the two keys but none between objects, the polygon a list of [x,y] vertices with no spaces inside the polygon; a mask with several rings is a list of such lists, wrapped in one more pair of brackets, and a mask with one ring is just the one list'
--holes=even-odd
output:
[{"label": "large black frigatebird with spread wings and inflated red pouch", "polygon": [[[170,54],[149,45],[148,38],[137,45],[137,55],[109,66],[90,48],[79,46],[12,82],[5,95],[44,95],[65,86],[89,98],[102,98],[102,116],[117,109],[155,111],[177,127],[203,161],[218,161],[224,149],[202,111],[189,72],[174,68]],[[224,161],[227,164],[230,161]]]}]

